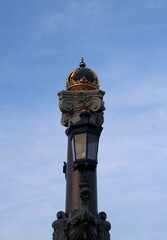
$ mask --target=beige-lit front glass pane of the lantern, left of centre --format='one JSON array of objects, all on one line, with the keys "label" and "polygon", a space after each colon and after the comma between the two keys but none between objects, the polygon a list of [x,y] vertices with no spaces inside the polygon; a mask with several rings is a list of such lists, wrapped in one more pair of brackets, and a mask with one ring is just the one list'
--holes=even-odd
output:
[{"label": "beige-lit front glass pane of the lantern, left of centre", "polygon": [[86,133],[78,134],[75,138],[76,160],[86,158]]}]

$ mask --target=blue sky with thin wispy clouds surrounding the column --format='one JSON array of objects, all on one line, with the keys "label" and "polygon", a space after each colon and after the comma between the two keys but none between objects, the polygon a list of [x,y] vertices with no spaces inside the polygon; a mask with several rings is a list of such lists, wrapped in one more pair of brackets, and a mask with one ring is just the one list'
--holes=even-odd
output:
[{"label": "blue sky with thin wispy clouds surrounding the column", "polygon": [[0,239],[49,240],[65,208],[57,92],[100,79],[99,212],[113,240],[167,237],[167,1],[0,0]]}]

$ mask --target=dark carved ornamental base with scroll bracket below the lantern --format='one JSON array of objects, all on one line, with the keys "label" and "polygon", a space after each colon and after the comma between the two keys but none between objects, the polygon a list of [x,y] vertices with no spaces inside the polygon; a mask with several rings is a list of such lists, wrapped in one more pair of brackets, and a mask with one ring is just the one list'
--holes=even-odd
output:
[{"label": "dark carved ornamental base with scroll bracket below the lantern", "polygon": [[53,240],[110,240],[111,224],[106,221],[105,212],[92,214],[88,209],[91,189],[88,182],[80,183],[80,210],[73,211],[67,216],[60,211],[52,227]]}]

